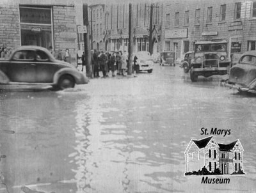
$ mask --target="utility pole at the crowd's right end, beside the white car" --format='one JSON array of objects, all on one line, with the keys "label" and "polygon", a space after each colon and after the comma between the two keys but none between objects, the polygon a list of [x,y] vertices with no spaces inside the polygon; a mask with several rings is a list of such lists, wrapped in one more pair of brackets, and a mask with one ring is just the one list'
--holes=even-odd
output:
[{"label": "utility pole at the crowd's right end, beside the white car", "polygon": [[128,75],[132,75],[132,52],[133,52],[133,30],[132,30],[132,4],[129,3],[129,47],[128,47]]}]

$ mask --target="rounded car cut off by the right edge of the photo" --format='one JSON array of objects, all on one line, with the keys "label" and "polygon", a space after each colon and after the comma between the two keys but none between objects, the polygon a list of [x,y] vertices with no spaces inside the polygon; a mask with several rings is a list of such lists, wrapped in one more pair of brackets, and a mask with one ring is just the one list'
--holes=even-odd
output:
[{"label": "rounded car cut off by the right edge of the photo", "polygon": [[256,93],[256,51],[242,54],[237,65],[230,69],[228,83],[230,88],[238,91]]}]

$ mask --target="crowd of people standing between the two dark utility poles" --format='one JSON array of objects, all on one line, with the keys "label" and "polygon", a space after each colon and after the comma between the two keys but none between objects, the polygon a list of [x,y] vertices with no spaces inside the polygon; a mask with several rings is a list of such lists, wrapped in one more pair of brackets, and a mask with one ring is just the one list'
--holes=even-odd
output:
[{"label": "crowd of people standing between the two dark utility poles", "polygon": [[[85,57],[85,56],[84,56]],[[85,59],[85,58],[84,58]],[[83,57],[82,57],[83,61]],[[99,71],[102,71],[103,77],[109,77],[111,71],[112,77],[116,75],[126,75],[128,56],[126,51],[119,52],[97,52],[92,53],[93,77],[99,77]],[[85,64],[84,64],[85,65]],[[115,73],[117,70],[117,73]]]}]

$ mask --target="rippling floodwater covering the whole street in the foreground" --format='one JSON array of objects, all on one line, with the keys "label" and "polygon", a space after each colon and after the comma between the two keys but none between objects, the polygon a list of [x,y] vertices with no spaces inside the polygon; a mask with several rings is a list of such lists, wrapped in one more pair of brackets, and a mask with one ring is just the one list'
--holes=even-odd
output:
[{"label": "rippling floodwater covering the whole street in the foreground", "polygon": [[[256,98],[179,66],[92,79],[67,91],[0,94],[0,192],[254,192]],[[244,176],[202,184],[184,176],[184,151],[202,127],[239,139]],[[3,179],[4,178],[4,179]],[[6,187],[8,189],[6,189]],[[28,191],[27,191],[28,192]]]}]

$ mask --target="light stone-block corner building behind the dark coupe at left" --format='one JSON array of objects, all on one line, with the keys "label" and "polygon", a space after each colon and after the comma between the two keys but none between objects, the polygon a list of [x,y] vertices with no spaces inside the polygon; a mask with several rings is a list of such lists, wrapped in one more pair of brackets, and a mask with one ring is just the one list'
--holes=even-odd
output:
[{"label": "light stone-block corner building behind the dark coupe at left", "polygon": [[82,4],[74,1],[13,0],[0,4],[0,46],[38,45],[70,50],[76,63],[77,23]]}]

